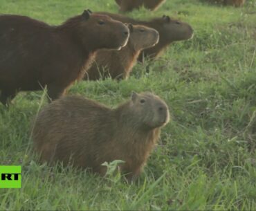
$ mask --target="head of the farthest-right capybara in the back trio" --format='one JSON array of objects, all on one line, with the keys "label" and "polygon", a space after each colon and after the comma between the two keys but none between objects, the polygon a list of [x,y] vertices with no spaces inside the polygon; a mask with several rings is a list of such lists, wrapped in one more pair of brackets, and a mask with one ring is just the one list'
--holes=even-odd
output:
[{"label": "head of the farthest-right capybara in the back trio", "polygon": [[164,35],[166,39],[171,39],[172,42],[190,39],[193,36],[192,27],[185,22],[172,19],[167,15],[163,15],[158,21],[165,31],[165,33],[161,33],[161,35]]}]

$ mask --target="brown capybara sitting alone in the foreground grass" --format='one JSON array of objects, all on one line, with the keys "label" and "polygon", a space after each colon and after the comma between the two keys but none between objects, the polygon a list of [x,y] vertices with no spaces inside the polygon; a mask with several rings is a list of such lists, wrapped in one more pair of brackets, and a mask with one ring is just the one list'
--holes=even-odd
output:
[{"label": "brown capybara sitting alone in the foreground grass", "polygon": [[138,176],[169,122],[167,104],[152,93],[132,93],[115,109],[79,96],[63,96],[39,112],[33,142],[41,162],[106,173],[104,162],[123,160],[120,171]]}]

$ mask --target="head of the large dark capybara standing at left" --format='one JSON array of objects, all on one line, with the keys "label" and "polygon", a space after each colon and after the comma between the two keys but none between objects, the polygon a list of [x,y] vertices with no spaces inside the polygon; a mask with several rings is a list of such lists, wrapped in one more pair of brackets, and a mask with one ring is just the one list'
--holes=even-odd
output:
[{"label": "head of the large dark capybara standing at left", "polygon": [[85,38],[84,45],[90,45],[88,40],[91,40],[97,49],[120,50],[127,44],[129,28],[120,21],[115,21],[107,15],[92,13],[90,10],[84,10],[80,18],[80,37]]}]

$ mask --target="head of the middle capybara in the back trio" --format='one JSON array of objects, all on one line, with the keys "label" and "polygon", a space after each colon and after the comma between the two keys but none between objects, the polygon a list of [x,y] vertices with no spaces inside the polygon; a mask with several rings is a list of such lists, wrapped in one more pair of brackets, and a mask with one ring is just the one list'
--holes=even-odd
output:
[{"label": "head of the middle capybara in the back trio", "polygon": [[158,43],[159,33],[154,28],[132,24],[128,26],[130,31],[129,43],[135,51],[152,47]]}]

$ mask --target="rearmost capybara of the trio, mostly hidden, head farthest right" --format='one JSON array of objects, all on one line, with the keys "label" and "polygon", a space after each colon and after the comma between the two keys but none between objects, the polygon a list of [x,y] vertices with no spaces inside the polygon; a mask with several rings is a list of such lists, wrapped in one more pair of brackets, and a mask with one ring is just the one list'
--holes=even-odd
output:
[{"label": "rearmost capybara of the trio, mostly hidden, head farthest right", "polygon": [[121,21],[122,23],[144,25],[158,31],[158,44],[152,48],[147,48],[141,51],[138,57],[140,62],[143,61],[143,57],[149,57],[149,59],[158,57],[172,42],[190,39],[193,36],[193,29],[189,24],[176,19],[171,19],[167,15],[163,15],[163,17],[158,17],[150,21],[140,21],[109,12],[97,12],[97,14],[109,15],[109,17]]}]

